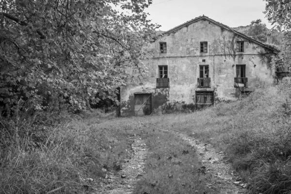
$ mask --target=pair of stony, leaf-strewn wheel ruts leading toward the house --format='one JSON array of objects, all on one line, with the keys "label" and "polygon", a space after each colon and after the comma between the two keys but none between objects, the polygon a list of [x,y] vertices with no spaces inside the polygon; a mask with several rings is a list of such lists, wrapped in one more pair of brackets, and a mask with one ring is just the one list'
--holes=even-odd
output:
[{"label": "pair of stony, leaf-strewn wheel ruts leading toward the house", "polygon": [[[172,131],[167,131],[172,132]],[[173,131],[174,132],[174,131]],[[225,160],[224,152],[216,153],[213,146],[203,144],[185,134],[178,133],[178,137],[187,141],[190,146],[196,147],[201,161],[198,173],[207,179],[206,186],[213,191],[213,194],[245,194],[247,184],[242,182],[234,169]],[[91,194],[133,194],[136,182],[146,173],[144,171],[145,161],[148,154],[148,147],[145,140],[140,136],[129,137],[132,140],[131,158],[125,159],[122,167],[115,174],[106,175],[101,191],[94,191]],[[182,154],[188,154],[183,150]],[[172,158],[168,158],[171,160]],[[172,178],[171,175],[168,176]],[[102,182],[102,181],[101,181]],[[205,193],[206,194],[206,193]]]}]

